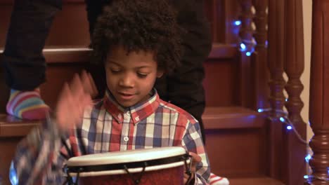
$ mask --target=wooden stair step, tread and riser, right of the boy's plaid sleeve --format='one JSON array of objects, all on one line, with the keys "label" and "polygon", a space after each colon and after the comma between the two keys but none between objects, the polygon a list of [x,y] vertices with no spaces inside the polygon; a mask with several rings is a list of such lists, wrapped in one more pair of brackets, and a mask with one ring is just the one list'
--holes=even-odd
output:
[{"label": "wooden stair step, tread and riser, right of the boy's plaid sleeve", "polygon": [[263,114],[244,107],[206,107],[202,120],[205,146],[214,174],[222,177],[265,174],[266,127]]}]

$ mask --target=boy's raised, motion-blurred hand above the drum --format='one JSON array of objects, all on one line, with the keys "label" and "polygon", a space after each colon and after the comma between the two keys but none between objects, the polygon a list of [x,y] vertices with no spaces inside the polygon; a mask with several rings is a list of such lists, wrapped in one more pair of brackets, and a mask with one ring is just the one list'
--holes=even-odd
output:
[{"label": "boy's raised, motion-blurred hand above the drum", "polygon": [[86,71],[81,76],[75,74],[70,84],[65,83],[58,97],[56,119],[61,130],[69,130],[82,123],[84,109],[92,105],[92,97],[97,95],[93,78]]}]

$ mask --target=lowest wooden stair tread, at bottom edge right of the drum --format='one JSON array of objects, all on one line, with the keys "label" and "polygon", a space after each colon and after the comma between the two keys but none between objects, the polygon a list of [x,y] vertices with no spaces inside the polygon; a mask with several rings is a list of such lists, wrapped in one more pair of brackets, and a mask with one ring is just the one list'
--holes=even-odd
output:
[{"label": "lowest wooden stair tread, at bottom edge right of the drum", "polygon": [[230,178],[230,185],[284,185],[283,182],[270,177]]}]

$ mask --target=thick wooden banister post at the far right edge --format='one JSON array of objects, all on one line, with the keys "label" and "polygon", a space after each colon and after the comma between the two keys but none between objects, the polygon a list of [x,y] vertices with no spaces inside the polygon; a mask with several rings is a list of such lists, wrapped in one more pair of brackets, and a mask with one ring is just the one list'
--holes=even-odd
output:
[{"label": "thick wooden banister post at the far right edge", "polygon": [[[329,1],[313,1],[309,121],[314,132],[309,184],[328,184],[329,174]],[[327,181],[325,181],[325,179]]]}]

